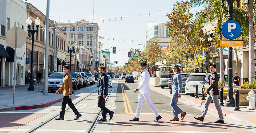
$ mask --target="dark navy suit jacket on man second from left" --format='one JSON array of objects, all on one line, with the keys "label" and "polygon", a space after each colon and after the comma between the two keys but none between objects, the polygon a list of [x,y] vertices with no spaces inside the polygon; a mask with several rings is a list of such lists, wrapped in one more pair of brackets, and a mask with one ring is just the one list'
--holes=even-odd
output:
[{"label": "dark navy suit jacket on man second from left", "polygon": [[101,78],[99,79],[99,91],[98,95],[107,95],[107,90],[109,87],[109,77],[107,77],[106,73],[101,74]]}]

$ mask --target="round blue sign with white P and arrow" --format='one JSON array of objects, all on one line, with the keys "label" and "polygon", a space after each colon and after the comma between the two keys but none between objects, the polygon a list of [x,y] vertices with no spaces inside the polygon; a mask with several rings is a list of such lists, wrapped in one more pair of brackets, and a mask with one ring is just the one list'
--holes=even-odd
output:
[{"label": "round blue sign with white P and arrow", "polygon": [[234,20],[228,20],[222,25],[221,32],[227,39],[236,39],[241,34],[241,26]]}]

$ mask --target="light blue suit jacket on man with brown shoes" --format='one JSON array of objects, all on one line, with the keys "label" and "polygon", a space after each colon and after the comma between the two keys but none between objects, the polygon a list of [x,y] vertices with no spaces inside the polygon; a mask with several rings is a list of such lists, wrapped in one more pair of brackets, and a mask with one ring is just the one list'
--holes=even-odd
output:
[{"label": "light blue suit jacket on man with brown shoes", "polygon": [[172,80],[172,88],[170,93],[173,95],[178,95],[181,94],[181,90],[182,90],[182,83],[181,83],[181,75],[179,73],[174,74]]}]

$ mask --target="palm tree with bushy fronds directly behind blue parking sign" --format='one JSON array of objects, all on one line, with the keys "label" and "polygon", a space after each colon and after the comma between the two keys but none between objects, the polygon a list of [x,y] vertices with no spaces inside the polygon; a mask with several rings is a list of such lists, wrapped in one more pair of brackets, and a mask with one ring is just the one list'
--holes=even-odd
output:
[{"label": "palm tree with bushy fronds directly behind blue parking sign", "polygon": [[[216,43],[216,45],[219,44],[219,40],[222,40],[222,33],[221,33],[221,27],[222,24],[227,20],[228,18],[228,6],[225,4],[225,6],[222,8],[221,6],[221,0],[189,0],[190,8],[197,7],[197,6],[203,6],[205,9],[199,11],[194,16],[194,22],[193,22],[193,30],[198,32],[200,27],[205,25],[215,25],[215,30],[213,33],[213,40]],[[239,9],[233,9],[233,16],[234,20],[236,20],[242,28],[242,31],[246,29],[246,12],[241,11]],[[235,14],[237,13],[237,14]],[[239,15],[239,17],[238,17]],[[223,70],[223,49],[222,47],[219,48],[219,64],[220,64],[220,79],[222,82],[224,82],[224,70]]]}]

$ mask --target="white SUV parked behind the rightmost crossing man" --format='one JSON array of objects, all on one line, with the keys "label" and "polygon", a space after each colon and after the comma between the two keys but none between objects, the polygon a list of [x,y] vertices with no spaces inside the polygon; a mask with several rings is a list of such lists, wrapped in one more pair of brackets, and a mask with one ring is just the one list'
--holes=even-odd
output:
[{"label": "white SUV parked behind the rightmost crossing man", "polygon": [[[220,77],[220,74],[217,73]],[[202,94],[202,86],[209,86],[210,72],[199,72],[191,73],[186,80],[185,93],[189,94],[191,97],[195,96],[195,87],[198,85],[198,94]],[[224,74],[225,83],[228,83],[228,75]]]}]

